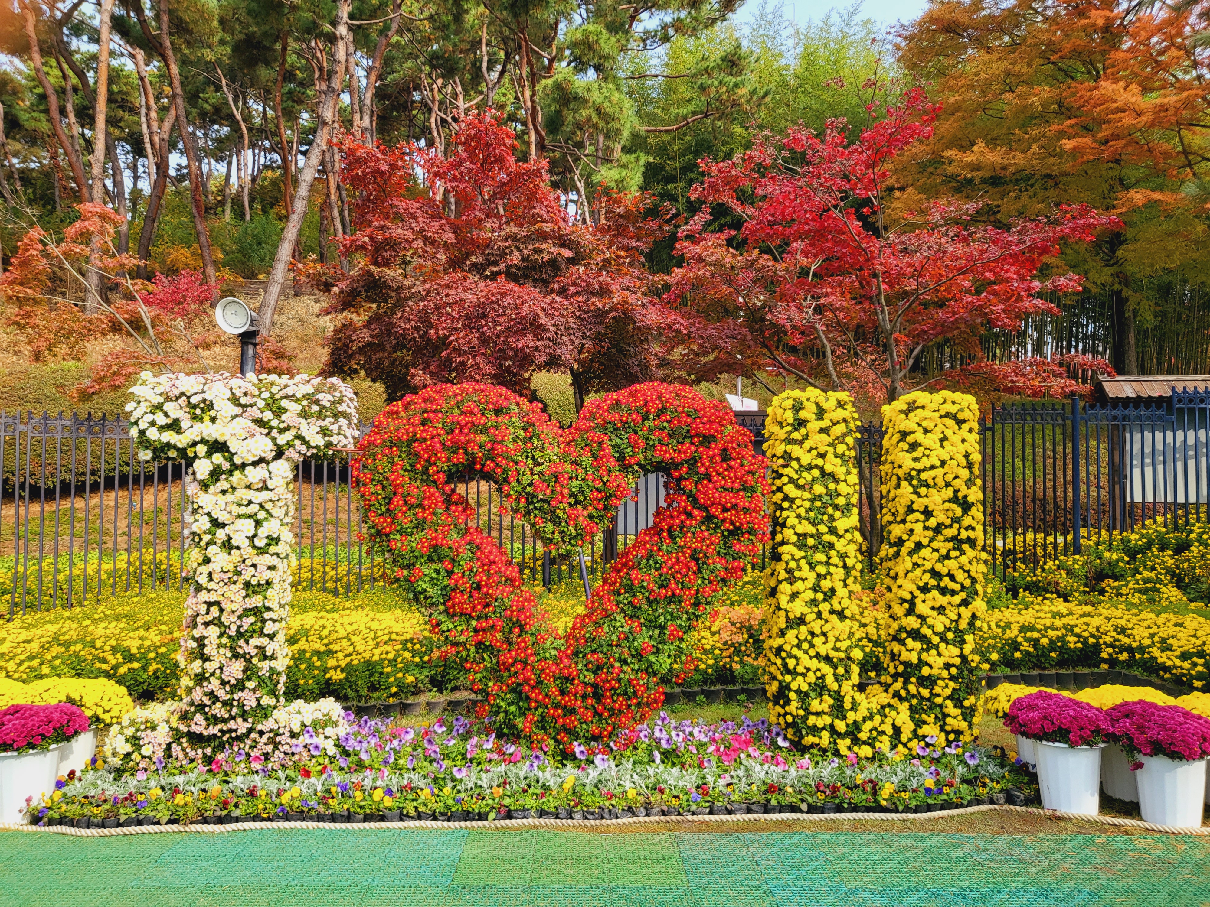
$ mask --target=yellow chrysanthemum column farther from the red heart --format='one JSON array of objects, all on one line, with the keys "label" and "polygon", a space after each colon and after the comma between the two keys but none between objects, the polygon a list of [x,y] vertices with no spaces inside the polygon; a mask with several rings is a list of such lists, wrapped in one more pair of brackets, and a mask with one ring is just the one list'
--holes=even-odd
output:
[{"label": "yellow chrysanthemum column farther from the red heart", "polygon": [[915,726],[900,741],[969,740],[987,669],[975,648],[987,572],[979,408],[917,391],[883,406],[882,423],[887,692]]}]

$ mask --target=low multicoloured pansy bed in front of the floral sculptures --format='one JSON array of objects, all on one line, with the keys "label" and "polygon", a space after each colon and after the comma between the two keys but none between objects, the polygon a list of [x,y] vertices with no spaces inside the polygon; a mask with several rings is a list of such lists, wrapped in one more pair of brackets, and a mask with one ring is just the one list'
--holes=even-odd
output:
[{"label": "low multicoloured pansy bed in front of the floral sculptures", "polygon": [[[309,733],[310,732],[310,733]],[[242,821],[491,821],[778,811],[932,811],[996,798],[1025,775],[980,746],[871,759],[795,753],[766,721],[704,724],[667,714],[609,744],[520,747],[463,717],[391,727],[346,715],[335,747],[270,764],[259,755],[185,768],[104,766],[60,779],[41,825]],[[312,755],[319,749],[318,755]]]}]

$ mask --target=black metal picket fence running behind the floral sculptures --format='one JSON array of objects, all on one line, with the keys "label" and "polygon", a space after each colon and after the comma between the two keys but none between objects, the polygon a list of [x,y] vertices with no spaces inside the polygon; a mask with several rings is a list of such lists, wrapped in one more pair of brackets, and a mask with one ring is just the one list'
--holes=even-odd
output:
[{"label": "black metal picket fence running behind the floral sculptures", "polygon": [[[764,412],[737,412],[764,447]],[[984,417],[983,483],[987,544],[997,570],[1037,568],[1143,521],[1210,516],[1210,389],[1182,389],[1134,406],[1078,400],[997,406]],[[860,532],[872,564],[882,544],[878,467],[882,428],[859,429]],[[188,528],[184,463],[144,463],[122,418],[0,412],[0,590],[8,611],[74,606],[100,594],[184,588]],[[578,573],[549,559],[500,490],[468,478],[462,492],[480,528],[508,551],[528,582]],[[616,527],[584,550],[599,574],[663,501],[659,475],[636,483]],[[352,593],[382,580],[361,541],[347,455],[298,472],[295,582]]]}]

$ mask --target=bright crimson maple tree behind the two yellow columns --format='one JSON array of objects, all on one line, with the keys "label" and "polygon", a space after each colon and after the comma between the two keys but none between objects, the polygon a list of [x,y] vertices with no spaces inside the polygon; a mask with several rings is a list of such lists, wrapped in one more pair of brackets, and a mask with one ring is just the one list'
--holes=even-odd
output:
[{"label": "bright crimson maple tree behind the two yellow columns", "polygon": [[[894,400],[938,377],[964,377],[961,369],[921,374],[932,345],[947,341],[978,359],[987,328],[1016,329],[1026,316],[1058,311],[1041,294],[1079,290],[1083,278],[1056,267],[1061,247],[1118,229],[1113,216],[1059,206],[1051,216],[997,226],[976,223],[978,203],[946,201],[892,216],[888,166],[932,134],[938,108],[920,88],[876,106],[885,91],[875,87],[855,141],[836,120],[823,135],[790,129],[759,137],[733,160],[702,161],[705,178],[692,195],[705,204],[680,232],[684,265],[664,296],[676,307],[668,336],[696,377],[766,382],[777,372]],[[1039,362],[975,368],[1014,392],[1030,392],[1031,375],[1050,393],[1077,386]]]}]

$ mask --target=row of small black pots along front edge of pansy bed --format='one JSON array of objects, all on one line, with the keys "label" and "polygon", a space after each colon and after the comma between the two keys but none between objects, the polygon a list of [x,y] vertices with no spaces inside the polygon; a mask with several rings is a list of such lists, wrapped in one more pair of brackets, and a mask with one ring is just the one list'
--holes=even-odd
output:
[{"label": "row of small black pots along front edge of pansy bed", "polygon": [[[760,802],[731,802],[710,803],[708,805],[692,807],[690,809],[676,809],[674,807],[634,807],[634,808],[599,808],[599,809],[572,809],[571,807],[559,807],[558,809],[512,809],[499,813],[287,813],[284,815],[260,816],[223,814],[200,816],[194,820],[197,825],[236,825],[238,822],[333,822],[339,825],[375,825],[378,822],[413,822],[413,821],[437,821],[437,822],[490,822],[505,819],[632,819],[643,816],[703,816],[703,815],[773,815],[777,813],[806,813],[809,815],[849,815],[854,813],[941,813],[951,809],[964,809],[967,807],[986,807],[989,804],[1008,804],[1010,807],[1024,807],[1028,798],[1015,787],[1007,791],[989,795],[986,797],[973,797],[967,801],[937,801],[933,803],[917,803],[912,805],[883,807],[881,804],[847,804],[847,803],[760,803]],[[134,828],[138,826],[161,825],[155,816],[129,816],[126,819],[47,819],[40,822],[46,826],[68,826],[73,828]],[[184,825],[179,819],[169,819],[163,825]]]}]

